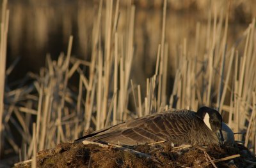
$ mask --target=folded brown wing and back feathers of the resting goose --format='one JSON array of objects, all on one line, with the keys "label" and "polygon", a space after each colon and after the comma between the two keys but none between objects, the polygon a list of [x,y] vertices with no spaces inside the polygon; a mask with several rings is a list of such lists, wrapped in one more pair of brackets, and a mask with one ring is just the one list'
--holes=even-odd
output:
[{"label": "folded brown wing and back feathers of the resting goose", "polygon": [[[180,113],[183,112],[183,113]],[[194,112],[175,111],[128,120],[109,129],[93,132],[84,137],[90,141],[136,145],[157,141],[189,143],[189,131],[193,126]]]}]

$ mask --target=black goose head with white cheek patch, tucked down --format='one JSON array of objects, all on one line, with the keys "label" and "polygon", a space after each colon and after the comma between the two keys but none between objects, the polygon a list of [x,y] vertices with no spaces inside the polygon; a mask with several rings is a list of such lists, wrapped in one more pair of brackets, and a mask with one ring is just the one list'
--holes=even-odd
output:
[{"label": "black goose head with white cheek patch, tucked down", "polygon": [[221,131],[222,117],[220,113],[215,109],[204,106],[198,109],[196,115],[204,120],[205,125],[207,125],[207,127],[209,127],[209,129],[211,129],[218,137],[219,143],[223,144],[224,138]]}]

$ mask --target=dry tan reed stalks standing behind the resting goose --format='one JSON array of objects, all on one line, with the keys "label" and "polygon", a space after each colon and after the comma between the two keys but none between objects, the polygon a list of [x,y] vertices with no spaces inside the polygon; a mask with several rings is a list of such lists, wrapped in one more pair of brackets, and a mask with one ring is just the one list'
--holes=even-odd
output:
[{"label": "dry tan reed stalks standing behind the resting goose", "polygon": [[[131,73],[139,71],[132,69],[136,7],[127,3],[126,10],[122,10],[124,15],[121,15],[120,1],[99,1],[93,20],[90,62],[71,57],[71,36],[67,53],[61,53],[58,60],[47,55],[47,63],[39,74],[28,73],[12,89],[6,86],[6,104],[4,111],[0,111],[0,119],[3,118],[0,130],[4,132],[4,141],[0,143],[6,147],[1,148],[1,152],[5,155],[20,153],[20,160],[33,155],[35,159],[36,151],[74,140],[90,128],[102,129],[163,109],[196,111],[202,105],[219,109],[234,132],[243,132],[242,136],[236,135],[236,140],[255,152],[255,19],[240,41],[229,44],[229,6],[219,9],[212,3],[207,29],[202,29],[200,23],[196,25],[195,44],[188,43],[186,38],[180,39],[183,42],[178,46],[175,58],[171,58],[175,62],[173,90],[167,95],[166,81],[171,72],[167,71],[170,57],[164,2],[156,71],[151,78],[143,79],[147,83],[145,97],[141,94],[141,85],[131,81]],[[122,31],[118,29],[120,17],[128,25]],[[190,45],[195,51],[189,50]],[[243,53],[237,48],[243,48]],[[5,55],[4,50],[1,49],[1,56]],[[0,103],[3,104],[5,66],[2,65],[1,60]],[[70,81],[76,76],[79,82],[74,87]],[[136,112],[129,106],[132,102]],[[0,107],[3,109],[3,105]],[[34,122],[36,125],[31,129]],[[15,139],[17,134],[21,144]]]}]

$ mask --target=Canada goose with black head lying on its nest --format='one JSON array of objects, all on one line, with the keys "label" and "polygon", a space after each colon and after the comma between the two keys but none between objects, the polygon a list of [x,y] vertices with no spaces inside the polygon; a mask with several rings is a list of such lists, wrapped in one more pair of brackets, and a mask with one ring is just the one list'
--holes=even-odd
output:
[{"label": "Canada goose with black head lying on its nest", "polygon": [[197,113],[187,109],[154,113],[153,115],[127,120],[108,129],[76,139],[113,143],[126,146],[155,143],[158,141],[180,144],[222,144],[222,117],[218,111],[202,107]]}]

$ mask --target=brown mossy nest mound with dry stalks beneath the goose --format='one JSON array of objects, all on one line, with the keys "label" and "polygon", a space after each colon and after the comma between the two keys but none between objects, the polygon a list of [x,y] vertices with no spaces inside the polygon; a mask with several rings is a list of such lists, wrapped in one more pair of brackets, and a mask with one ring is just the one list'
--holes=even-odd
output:
[{"label": "brown mossy nest mound with dry stalks beneath the goose", "polygon": [[[144,144],[130,148],[90,141],[61,143],[38,152],[37,167],[253,167],[256,158],[241,144],[232,147],[172,147]],[[31,160],[15,164],[31,167]]]}]

